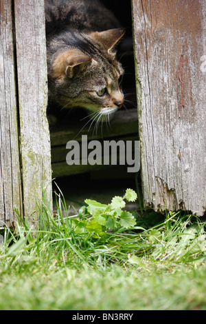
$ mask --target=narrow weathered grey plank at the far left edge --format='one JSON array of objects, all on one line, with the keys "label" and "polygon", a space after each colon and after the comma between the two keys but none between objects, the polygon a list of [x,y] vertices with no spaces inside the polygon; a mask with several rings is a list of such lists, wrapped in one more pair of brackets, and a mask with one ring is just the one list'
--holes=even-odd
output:
[{"label": "narrow weathered grey plank at the far left edge", "polygon": [[10,0],[0,2],[0,29],[0,226],[13,226],[22,208]]}]

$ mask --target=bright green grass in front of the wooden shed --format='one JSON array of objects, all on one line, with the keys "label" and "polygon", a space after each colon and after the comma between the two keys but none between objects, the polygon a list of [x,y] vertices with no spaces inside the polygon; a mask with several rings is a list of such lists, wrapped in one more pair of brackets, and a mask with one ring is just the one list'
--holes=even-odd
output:
[{"label": "bright green grass in front of the wooden shed", "polygon": [[1,232],[0,310],[206,310],[203,219],[136,213],[136,229],[98,236],[78,232],[63,197],[38,214],[36,232],[20,215]]}]

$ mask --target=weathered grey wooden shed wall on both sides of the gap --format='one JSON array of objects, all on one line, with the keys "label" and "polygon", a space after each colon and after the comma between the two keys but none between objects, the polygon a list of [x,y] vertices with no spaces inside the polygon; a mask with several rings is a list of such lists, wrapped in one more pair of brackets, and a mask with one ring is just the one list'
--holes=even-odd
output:
[{"label": "weathered grey wooden shed wall on both sides of the gap", "polygon": [[[206,3],[132,2],[144,203],[202,215]],[[44,1],[1,0],[0,28],[0,223],[33,223],[52,192]]]}]

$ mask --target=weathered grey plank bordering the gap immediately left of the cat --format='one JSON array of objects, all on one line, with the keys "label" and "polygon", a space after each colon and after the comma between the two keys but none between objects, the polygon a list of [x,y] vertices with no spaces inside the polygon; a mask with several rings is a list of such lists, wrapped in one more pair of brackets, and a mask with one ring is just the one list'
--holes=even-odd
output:
[{"label": "weathered grey plank bordering the gap immediately left of the cat", "polygon": [[42,189],[47,199],[52,192],[44,1],[16,0],[14,8],[24,212],[32,224]]}]

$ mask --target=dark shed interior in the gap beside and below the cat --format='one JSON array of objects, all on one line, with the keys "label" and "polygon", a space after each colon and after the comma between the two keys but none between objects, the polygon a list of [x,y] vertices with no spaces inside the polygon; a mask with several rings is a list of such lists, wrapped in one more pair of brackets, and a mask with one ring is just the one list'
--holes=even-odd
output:
[{"label": "dark shed interior in the gap beside and below the cat", "polygon": [[[125,94],[125,107],[116,112],[110,125],[100,124],[96,132],[95,125],[85,125],[87,114],[82,109],[62,110],[58,123],[50,127],[52,144],[52,172],[56,184],[62,190],[68,205],[80,207],[84,199],[90,198],[109,203],[115,195],[122,196],[126,188],[137,190],[135,173],[128,173],[125,165],[67,165],[68,141],[81,142],[82,135],[90,140],[137,140],[137,102],[135,92],[135,65],[133,54],[133,28],[130,1],[102,0],[113,11],[126,33],[119,43],[118,59],[125,70],[122,88]],[[86,119],[87,121],[87,119]],[[95,123],[93,123],[95,124]],[[55,184],[56,183],[56,184]],[[55,199],[54,199],[55,203]],[[137,208],[138,203],[131,205]]]}]

